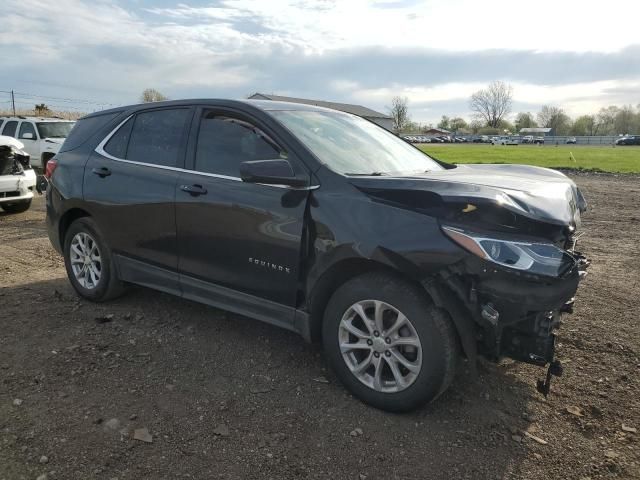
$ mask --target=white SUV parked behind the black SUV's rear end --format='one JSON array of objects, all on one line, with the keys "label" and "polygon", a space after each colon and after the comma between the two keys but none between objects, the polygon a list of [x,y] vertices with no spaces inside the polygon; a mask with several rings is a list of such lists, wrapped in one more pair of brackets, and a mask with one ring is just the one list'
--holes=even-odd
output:
[{"label": "white SUV parked behind the black SUV's rear end", "polygon": [[20,140],[31,156],[31,164],[44,170],[75,123],[59,118],[0,117],[0,135]]}]

